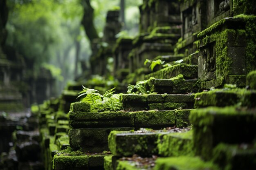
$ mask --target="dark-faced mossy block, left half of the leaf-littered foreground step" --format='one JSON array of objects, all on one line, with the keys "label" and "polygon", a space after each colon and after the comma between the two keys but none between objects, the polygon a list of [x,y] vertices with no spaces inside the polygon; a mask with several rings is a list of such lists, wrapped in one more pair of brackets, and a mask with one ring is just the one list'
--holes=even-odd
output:
[{"label": "dark-faced mossy block, left half of the leaf-littered foreground step", "polygon": [[114,156],[128,157],[156,155],[159,135],[168,132],[118,132],[112,131],[108,137],[108,146]]}]

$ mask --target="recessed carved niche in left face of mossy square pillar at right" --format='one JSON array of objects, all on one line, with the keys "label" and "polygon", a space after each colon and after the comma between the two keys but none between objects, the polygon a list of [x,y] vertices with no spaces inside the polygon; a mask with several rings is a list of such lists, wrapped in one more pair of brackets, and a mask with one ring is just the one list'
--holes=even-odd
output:
[{"label": "recessed carved niche in left face of mossy square pillar at right", "polygon": [[199,51],[198,77],[202,81],[216,79],[216,42],[204,46]]}]

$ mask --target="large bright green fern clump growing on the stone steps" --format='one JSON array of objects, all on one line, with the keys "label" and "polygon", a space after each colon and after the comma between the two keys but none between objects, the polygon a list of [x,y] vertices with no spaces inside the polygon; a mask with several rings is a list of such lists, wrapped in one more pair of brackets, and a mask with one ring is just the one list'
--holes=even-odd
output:
[{"label": "large bright green fern clump growing on the stone steps", "polygon": [[85,96],[82,102],[90,103],[92,111],[117,111],[122,108],[122,103],[120,102],[120,95],[113,94],[114,90],[115,88],[112,88],[101,95],[99,91],[83,86],[83,91],[79,93],[77,98]]}]

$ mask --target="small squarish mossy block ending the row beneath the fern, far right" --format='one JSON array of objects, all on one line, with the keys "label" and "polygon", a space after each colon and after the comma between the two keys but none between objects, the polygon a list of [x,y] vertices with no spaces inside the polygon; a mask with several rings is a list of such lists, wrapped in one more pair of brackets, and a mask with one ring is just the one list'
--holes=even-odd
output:
[{"label": "small squarish mossy block ending the row beneath the fern, far right", "polygon": [[190,126],[189,114],[192,109],[175,110],[175,126],[177,128],[184,128]]}]

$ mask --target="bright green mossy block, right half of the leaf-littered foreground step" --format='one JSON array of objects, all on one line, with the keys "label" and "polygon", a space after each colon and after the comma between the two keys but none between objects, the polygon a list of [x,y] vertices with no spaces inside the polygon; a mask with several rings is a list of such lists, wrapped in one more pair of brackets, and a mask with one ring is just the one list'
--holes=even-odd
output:
[{"label": "bright green mossy block, right half of the leaf-littered foreground step", "polygon": [[163,135],[157,148],[158,154],[163,157],[193,156],[192,130]]}]

